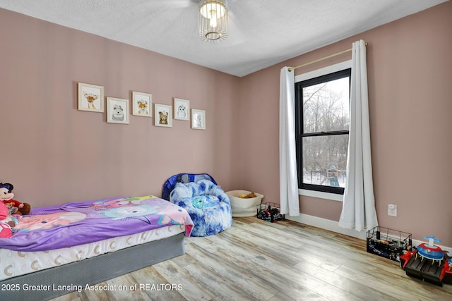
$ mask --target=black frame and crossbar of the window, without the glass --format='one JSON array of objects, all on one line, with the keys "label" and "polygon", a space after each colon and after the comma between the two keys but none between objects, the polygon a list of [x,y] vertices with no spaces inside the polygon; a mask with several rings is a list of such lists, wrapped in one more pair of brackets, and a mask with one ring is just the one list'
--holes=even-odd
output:
[{"label": "black frame and crossbar of the window, without the glass", "polygon": [[[352,78],[352,68],[346,68],[326,75],[321,75],[316,78],[310,78],[308,80],[302,80],[295,82],[295,140],[297,145],[297,173],[298,173],[298,187],[304,190],[314,190],[319,192],[330,192],[338,195],[344,194],[344,188],[334,187],[328,185],[316,185],[303,183],[303,137],[321,137],[328,135],[349,135],[349,130],[335,130],[319,133],[303,133],[303,88],[311,85],[317,85],[322,82],[329,82],[331,80],[338,80],[340,78],[349,78],[349,91],[350,82]],[[351,91],[350,91],[351,92]],[[350,93],[351,94],[351,93]],[[350,104],[350,99],[349,99]]]}]

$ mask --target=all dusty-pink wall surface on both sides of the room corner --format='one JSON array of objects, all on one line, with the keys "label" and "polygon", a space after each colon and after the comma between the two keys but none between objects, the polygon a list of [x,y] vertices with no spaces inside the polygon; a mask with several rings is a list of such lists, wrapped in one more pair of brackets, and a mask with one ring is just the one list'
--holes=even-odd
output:
[{"label": "all dusty-pink wall surface on both sides of the room corner", "polygon": [[[452,246],[452,2],[363,32],[244,78],[0,9],[0,127],[6,147],[0,180],[33,206],[118,195],[160,195],[179,171],[208,172],[225,190],[247,189],[279,202],[278,99],[283,66],[367,48],[376,209],[381,226],[436,235]],[[323,61],[296,74],[350,59]],[[206,109],[207,130],[186,121],[156,128],[131,116],[78,111],[77,82],[131,90]],[[206,84],[208,82],[208,84]],[[398,217],[386,215],[398,204]],[[303,214],[338,221],[341,202],[300,197]]]}]

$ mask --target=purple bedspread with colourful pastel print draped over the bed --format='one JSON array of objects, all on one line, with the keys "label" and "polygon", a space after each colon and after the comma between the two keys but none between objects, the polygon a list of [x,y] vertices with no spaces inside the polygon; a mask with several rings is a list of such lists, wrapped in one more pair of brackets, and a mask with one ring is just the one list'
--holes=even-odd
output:
[{"label": "purple bedspread with colourful pastel print draped over the bed", "polygon": [[32,209],[0,248],[48,251],[170,225],[184,225],[187,236],[194,226],[185,209],[153,196],[73,202]]}]

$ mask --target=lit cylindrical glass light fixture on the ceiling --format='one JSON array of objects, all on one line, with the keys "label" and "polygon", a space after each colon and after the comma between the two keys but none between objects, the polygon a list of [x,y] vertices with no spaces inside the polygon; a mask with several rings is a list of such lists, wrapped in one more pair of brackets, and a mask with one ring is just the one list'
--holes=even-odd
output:
[{"label": "lit cylindrical glass light fixture on the ceiling", "polygon": [[203,0],[199,4],[198,32],[203,41],[221,41],[227,37],[225,0]]}]

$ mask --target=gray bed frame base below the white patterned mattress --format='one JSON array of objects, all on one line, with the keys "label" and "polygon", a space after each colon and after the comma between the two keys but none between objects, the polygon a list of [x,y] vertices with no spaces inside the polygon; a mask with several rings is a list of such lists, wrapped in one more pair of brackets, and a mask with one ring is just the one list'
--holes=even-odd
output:
[{"label": "gray bed frame base below the white patterned mattress", "polygon": [[[135,245],[97,257],[71,262],[0,281],[1,300],[49,300],[72,290],[53,290],[59,285],[95,285],[185,253],[184,233]],[[49,285],[49,290],[24,290],[30,285]],[[15,288],[17,290],[11,290]]]}]

